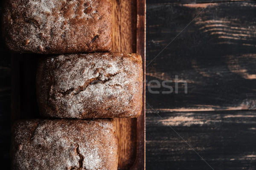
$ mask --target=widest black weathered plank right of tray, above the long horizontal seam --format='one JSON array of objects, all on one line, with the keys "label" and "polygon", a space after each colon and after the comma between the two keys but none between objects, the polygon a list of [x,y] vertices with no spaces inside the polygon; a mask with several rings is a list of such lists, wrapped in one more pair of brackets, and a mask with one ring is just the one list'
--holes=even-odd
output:
[{"label": "widest black weathered plank right of tray, above the long horizontal seam", "polygon": [[[206,5],[147,6],[146,64]],[[147,82],[172,80],[166,85],[175,89],[177,75],[188,93],[182,82],[178,94],[147,86],[148,104],[166,112],[256,109],[255,11],[256,1],[210,4],[146,68]]]}]

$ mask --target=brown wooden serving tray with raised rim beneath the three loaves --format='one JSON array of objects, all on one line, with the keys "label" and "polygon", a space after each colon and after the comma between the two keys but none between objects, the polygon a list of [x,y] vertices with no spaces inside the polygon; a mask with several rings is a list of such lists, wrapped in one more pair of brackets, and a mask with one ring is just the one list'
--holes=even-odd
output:
[{"label": "brown wooden serving tray with raised rim beneath the three loaves", "polygon": [[[112,51],[138,53],[143,59],[145,80],[145,0],[112,0]],[[37,54],[12,56],[11,122],[40,117],[36,102]],[[143,109],[138,119],[116,119],[119,139],[119,170],[145,169],[145,85]]]}]

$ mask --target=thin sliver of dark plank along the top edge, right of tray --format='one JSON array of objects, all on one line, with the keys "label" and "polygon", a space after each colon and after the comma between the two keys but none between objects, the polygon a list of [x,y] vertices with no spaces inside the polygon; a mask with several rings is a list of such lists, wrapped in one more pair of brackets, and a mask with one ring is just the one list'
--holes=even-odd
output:
[{"label": "thin sliver of dark plank along the top edge, right of tray", "polygon": [[216,3],[216,2],[234,2],[234,1],[251,1],[251,0],[147,0],[147,5],[160,3]]}]

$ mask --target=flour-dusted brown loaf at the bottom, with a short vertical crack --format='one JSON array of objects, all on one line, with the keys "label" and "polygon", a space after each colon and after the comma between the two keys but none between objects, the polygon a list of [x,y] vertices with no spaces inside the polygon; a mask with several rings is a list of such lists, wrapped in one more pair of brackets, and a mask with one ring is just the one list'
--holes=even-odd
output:
[{"label": "flour-dusted brown loaf at the bottom, with a short vertical crack", "polygon": [[21,120],[12,129],[12,170],[117,170],[113,120]]}]

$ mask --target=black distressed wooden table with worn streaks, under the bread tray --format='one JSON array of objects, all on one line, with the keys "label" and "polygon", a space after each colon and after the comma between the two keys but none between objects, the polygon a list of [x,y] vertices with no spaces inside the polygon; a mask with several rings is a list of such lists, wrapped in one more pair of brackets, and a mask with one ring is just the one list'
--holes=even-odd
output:
[{"label": "black distressed wooden table with worn streaks, under the bread tray", "polygon": [[[148,170],[256,169],[256,1],[209,2],[147,0],[146,79],[174,88],[146,88]],[[0,164],[8,170],[12,54],[3,41],[0,52]],[[183,82],[175,93],[175,75],[187,94]],[[22,82],[22,95],[35,90]]]}]

